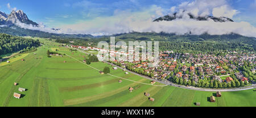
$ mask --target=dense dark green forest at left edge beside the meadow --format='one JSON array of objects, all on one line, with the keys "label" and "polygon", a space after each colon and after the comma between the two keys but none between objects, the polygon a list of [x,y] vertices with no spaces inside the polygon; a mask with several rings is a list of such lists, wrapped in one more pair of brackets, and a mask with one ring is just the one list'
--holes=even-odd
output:
[{"label": "dense dark green forest at left edge beside the meadow", "polygon": [[35,41],[32,39],[0,33],[0,55],[14,53],[38,46],[40,46],[40,42],[38,40]]}]

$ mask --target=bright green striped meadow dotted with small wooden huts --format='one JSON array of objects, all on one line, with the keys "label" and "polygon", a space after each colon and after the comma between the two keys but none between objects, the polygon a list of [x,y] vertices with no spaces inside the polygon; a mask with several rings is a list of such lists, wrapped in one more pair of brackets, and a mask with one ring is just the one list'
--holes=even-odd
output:
[{"label": "bright green striped meadow dotted with small wooden huts", "polygon": [[[256,94],[253,90],[222,92],[222,97],[216,102],[209,102],[210,95],[214,92],[194,91],[174,86],[152,86],[140,84],[150,83],[150,80],[129,73],[125,75],[122,69],[110,69],[110,74],[128,78],[129,81],[110,75],[100,75],[98,71],[81,63],[83,53],[69,51],[59,47],[58,43],[39,39],[44,46],[33,53],[26,54],[11,64],[0,67],[0,106],[256,106]],[[52,56],[48,58],[47,50],[56,50],[65,53],[63,58]],[[77,61],[69,56],[72,56]],[[85,55],[86,56],[86,55]],[[36,59],[38,58],[38,59]],[[41,59],[40,59],[41,58]],[[64,60],[66,63],[64,63]],[[102,62],[90,64],[92,67],[103,70],[110,65]],[[14,82],[18,82],[14,86]],[[162,85],[157,83],[157,85]],[[20,92],[18,88],[26,88]],[[129,87],[135,90],[130,92]],[[16,99],[13,93],[22,94]],[[150,93],[155,98],[150,102],[144,92]]]}]

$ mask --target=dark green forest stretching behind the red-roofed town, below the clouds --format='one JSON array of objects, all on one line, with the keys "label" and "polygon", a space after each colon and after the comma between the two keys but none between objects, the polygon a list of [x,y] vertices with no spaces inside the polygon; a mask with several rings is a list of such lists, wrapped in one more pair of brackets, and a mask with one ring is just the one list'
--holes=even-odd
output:
[{"label": "dark green forest stretching behind the red-roofed town, below the clouds", "polygon": [[[73,41],[73,43],[69,41]],[[79,40],[74,38],[56,40],[56,42],[60,43],[82,46],[88,46],[89,42],[92,43],[92,46],[97,46],[97,43],[100,41],[110,42],[110,36],[94,37],[86,40]],[[115,42],[117,41],[159,41],[160,50],[174,50],[179,53],[213,52],[223,50],[256,50],[256,38],[245,37],[233,33],[225,35],[176,35],[170,33],[134,32],[115,35]]]}]

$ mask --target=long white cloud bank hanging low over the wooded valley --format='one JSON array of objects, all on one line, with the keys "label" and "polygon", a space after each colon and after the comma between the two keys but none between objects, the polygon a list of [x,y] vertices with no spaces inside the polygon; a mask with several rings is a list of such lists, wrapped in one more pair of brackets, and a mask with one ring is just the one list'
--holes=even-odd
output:
[{"label": "long white cloud bank hanging low over the wooded valley", "polygon": [[183,16],[182,19],[172,21],[152,22],[154,19],[163,16],[164,9],[152,5],[150,8],[144,8],[141,11],[131,12],[130,10],[115,11],[113,16],[98,17],[92,20],[80,21],[75,24],[60,26],[61,30],[51,30],[40,25],[24,25],[19,23],[19,27],[42,30],[50,33],[67,34],[92,34],[93,36],[112,35],[129,32],[166,32],[176,34],[229,34],[237,33],[243,36],[256,37],[256,28],[250,23],[225,22],[218,23],[209,19],[208,21],[197,21],[189,19],[187,13],[195,16],[212,15],[215,17],[225,16],[233,18],[239,11],[229,6],[226,0],[195,0],[192,2],[183,2],[178,6],[172,6],[168,9],[170,15],[173,12]]}]

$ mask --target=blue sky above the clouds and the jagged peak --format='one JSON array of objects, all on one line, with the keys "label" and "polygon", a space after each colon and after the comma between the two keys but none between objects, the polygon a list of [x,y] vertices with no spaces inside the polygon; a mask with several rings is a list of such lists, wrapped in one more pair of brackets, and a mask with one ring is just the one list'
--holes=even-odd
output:
[{"label": "blue sky above the clouds and the jagged peak", "polygon": [[[63,24],[74,24],[97,17],[112,16],[116,11],[141,11],[152,5],[162,8],[162,14],[170,12],[172,6],[180,5],[184,0],[7,0],[1,1],[0,10],[9,14],[12,8],[23,10],[28,18],[48,27],[59,27]],[[9,3],[10,8],[7,7]],[[247,21],[256,27],[256,1],[228,0],[228,4],[238,10],[234,15],[236,21]]]}]

